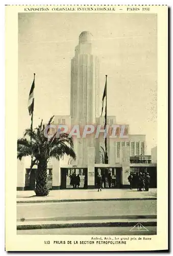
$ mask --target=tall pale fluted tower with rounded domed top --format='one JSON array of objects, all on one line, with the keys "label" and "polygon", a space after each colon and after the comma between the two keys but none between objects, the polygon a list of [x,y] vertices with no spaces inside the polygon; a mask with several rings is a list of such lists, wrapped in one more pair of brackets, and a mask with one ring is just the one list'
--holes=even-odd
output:
[{"label": "tall pale fluted tower with rounded domed top", "polygon": [[[79,36],[79,45],[75,48],[75,57],[71,59],[71,125],[95,124],[98,116],[98,59],[92,54],[90,32]],[[74,139],[78,166],[87,165],[87,149],[94,140]]]}]

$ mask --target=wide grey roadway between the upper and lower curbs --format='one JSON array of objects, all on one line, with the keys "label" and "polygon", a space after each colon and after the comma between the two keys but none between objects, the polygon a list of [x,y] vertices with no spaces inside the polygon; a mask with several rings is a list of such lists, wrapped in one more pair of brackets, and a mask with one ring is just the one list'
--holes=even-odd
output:
[{"label": "wide grey roadway between the upper and lower curbs", "polygon": [[17,219],[26,221],[45,219],[72,219],[81,216],[143,216],[157,214],[157,200],[90,201],[58,203],[21,203],[17,204]]}]

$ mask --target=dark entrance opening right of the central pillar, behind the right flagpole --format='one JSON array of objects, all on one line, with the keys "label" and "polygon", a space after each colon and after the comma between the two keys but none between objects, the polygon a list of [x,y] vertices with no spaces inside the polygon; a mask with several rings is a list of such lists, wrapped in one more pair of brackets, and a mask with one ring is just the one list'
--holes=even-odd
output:
[{"label": "dark entrance opening right of the central pillar, behind the right flagpole", "polygon": [[97,187],[97,176],[102,176],[102,187],[103,188],[120,188],[121,181],[121,168],[98,168],[95,167],[95,188]]}]

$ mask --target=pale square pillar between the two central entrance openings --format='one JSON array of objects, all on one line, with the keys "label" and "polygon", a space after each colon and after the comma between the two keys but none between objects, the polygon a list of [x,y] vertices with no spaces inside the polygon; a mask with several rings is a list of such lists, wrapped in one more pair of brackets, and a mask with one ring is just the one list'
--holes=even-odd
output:
[{"label": "pale square pillar between the two central entrance openings", "polygon": [[88,147],[88,188],[94,188],[95,182],[95,148]]}]

